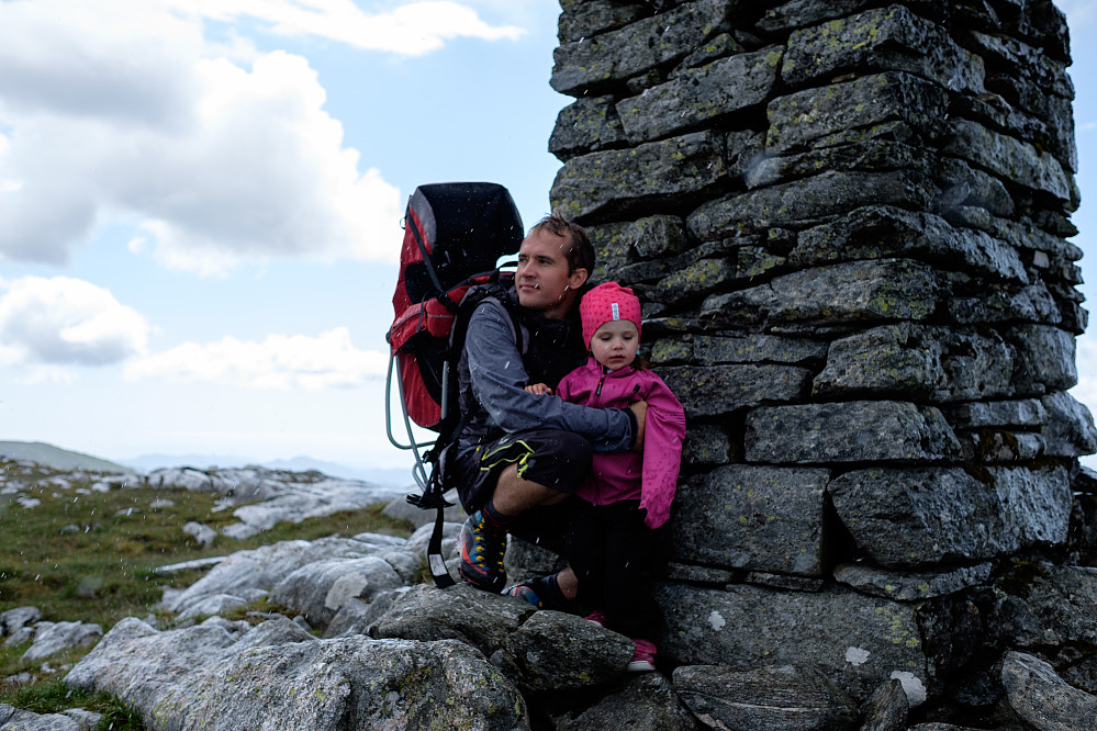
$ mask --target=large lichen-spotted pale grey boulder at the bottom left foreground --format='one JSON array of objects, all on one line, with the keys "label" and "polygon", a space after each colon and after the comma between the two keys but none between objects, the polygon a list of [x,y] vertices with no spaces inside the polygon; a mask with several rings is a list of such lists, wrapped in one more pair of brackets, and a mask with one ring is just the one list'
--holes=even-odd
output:
[{"label": "large lichen-spotted pale grey boulder at the bottom left foreground", "polygon": [[135,706],[149,729],[528,729],[525,702],[454,641],[318,640],[289,620],[233,639],[219,628],[157,632],[122,620],[65,683]]}]

